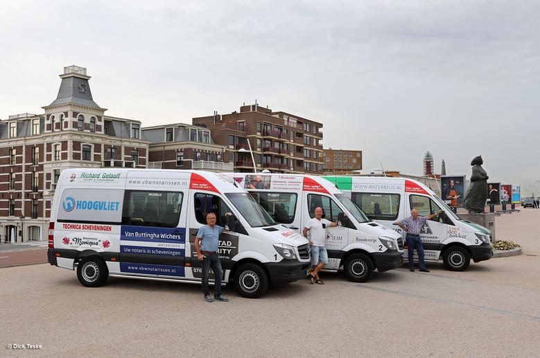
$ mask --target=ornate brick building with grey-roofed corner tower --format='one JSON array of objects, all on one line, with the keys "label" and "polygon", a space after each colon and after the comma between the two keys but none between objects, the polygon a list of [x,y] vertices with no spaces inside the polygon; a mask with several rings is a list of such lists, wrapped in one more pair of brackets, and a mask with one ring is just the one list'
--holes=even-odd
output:
[{"label": "ornate brick building with grey-roofed corner tower", "polygon": [[0,241],[46,239],[62,169],[146,168],[141,122],[105,115],[83,67],[64,67],[58,96],[44,114],[0,121]]}]

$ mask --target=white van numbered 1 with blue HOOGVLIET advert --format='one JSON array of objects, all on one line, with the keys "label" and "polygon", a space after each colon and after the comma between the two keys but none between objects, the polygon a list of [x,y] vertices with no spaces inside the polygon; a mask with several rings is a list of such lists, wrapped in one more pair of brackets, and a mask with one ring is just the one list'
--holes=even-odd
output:
[{"label": "white van numbered 1 with blue HOOGVLIET advert", "polygon": [[[194,241],[209,212],[229,228],[218,250],[223,282],[234,282],[241,296],[259,297],[269,284],[298,280],[308,268],[307,240],[275,223],[230,178],[152,169],[62,171],[51,208],[49,263],[76,269],[87,287],[108,276],[198,283]],[[227,222],[226,212],[234,214]]]}]

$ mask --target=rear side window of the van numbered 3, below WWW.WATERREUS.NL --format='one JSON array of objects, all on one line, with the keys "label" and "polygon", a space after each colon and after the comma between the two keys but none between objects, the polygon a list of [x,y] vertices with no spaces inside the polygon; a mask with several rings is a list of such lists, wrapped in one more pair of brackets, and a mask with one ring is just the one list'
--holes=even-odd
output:
[{"label": "rear side window of the van numbered 3, below WWW.WATERREUS.NL", "polygon": [[399,194],[352,193],[351,200],[372,220],[394,221],[399,214]]}]

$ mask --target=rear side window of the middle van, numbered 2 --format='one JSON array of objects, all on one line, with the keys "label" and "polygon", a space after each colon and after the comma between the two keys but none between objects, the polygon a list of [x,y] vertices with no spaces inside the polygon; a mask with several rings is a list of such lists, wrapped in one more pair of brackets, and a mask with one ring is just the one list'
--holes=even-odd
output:
[{"label": "rear side window of the middle van, numbered 2", "polygon": [[250,194],[278,223],[293,223],[295,221],[297,194],[254,191]]}]

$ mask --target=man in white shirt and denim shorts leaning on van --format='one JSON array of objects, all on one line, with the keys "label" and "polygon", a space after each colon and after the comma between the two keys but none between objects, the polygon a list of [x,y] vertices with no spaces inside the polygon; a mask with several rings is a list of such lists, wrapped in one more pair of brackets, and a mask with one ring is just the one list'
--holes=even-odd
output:
[{"label": "man in white shirt and denim shorts leaning on van", "polygon": [[324,284],[319,278],[319,271],[328,264],[328,253],[325,246],[326,229],[337,225],[338,219],[335,222],[322,219],[321,207],[315,208],[315,217],[306,223],[303,234],[311,245],[311,264],[313,265],[313,271],[309,275],[311,284]]}]

